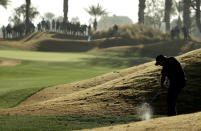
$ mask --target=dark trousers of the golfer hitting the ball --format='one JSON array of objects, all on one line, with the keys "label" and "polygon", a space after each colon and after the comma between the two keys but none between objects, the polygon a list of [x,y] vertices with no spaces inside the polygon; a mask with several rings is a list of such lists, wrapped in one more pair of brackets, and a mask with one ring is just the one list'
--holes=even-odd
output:
[{"label": "dark trousers of the golfer hitting the ball", "polygon": [[177,115],[176,102],[181,90],[182,87],[176,85],[170,85],[167,96],[168,116]]}]

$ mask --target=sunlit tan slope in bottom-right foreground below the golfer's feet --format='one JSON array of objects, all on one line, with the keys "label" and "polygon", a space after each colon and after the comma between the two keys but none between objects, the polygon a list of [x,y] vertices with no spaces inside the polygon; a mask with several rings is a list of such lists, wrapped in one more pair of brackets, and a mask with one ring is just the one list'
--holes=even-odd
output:
[{"label": "sunlit tan slope in bottom-right foreground below the golfer's feet", "polygon": [[200,131],[201,112],[83,131]]}]

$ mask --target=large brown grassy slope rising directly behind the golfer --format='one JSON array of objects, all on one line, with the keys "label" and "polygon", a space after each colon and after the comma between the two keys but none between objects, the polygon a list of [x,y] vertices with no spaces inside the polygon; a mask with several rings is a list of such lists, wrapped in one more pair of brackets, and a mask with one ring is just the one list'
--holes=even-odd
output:
[{"label": "large brown grassy slope rising directly behind the golfer", "polygon": [[[200,111],[201,49],[177,57],[188,83],[179,98],[179,113]],[[154,62],[111,72],[89,80],[50,87],[19,106],[1,110],[9,114],[136,114],[138,106],[150,102],[159,89],[160,68]],[[166,94],[152,103],[154,114],[166,114]]]}]

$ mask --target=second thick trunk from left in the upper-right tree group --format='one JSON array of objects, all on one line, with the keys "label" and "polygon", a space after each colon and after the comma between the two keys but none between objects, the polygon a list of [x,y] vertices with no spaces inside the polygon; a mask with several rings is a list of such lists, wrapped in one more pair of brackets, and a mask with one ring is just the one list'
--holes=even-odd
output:
[{"label": "second thick trunk from left in the upper-right tree group", "polygon": [[165,27],[166,31],[170,31],[170,13],[172,9],[172,0],[165,0]]}]

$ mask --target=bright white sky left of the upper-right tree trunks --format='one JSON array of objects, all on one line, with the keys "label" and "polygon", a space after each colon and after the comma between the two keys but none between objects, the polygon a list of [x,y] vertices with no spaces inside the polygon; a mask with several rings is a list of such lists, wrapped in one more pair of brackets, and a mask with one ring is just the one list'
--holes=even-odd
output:
[{"label": "bright white sky left of the upper-right tree trunks", "polygon": [[[13,9],[25,3],[25,0],[11,0],[7,9],[0,6],[0,27],[8,24],[8,18],[12,15]],[[31,0],[34,7],[43,16],[47,12],[52,12],[55,16],[63,16],[63,0]],[[84,10],[91,5],[100,4],[109,15],[128,16],[134,23],[138,20],[138,0],[69,0],[68,18],[78,17],[80,22],[88,24],[91,16]],[[35,19],[34,23],[41,20]]]}]

